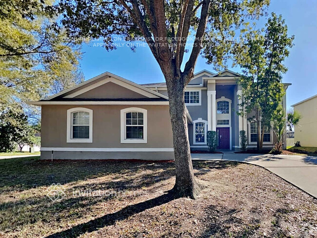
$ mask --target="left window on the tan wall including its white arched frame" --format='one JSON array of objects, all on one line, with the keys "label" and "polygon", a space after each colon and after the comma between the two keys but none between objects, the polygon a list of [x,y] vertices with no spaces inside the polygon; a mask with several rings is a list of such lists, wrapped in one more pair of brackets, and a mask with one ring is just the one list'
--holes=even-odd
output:
[{"label": "left window on the tan wall including its white arched frame", "polygon": [[76,107],[67,110],[66,142],[93,142],[93,110],[84,107]]}]

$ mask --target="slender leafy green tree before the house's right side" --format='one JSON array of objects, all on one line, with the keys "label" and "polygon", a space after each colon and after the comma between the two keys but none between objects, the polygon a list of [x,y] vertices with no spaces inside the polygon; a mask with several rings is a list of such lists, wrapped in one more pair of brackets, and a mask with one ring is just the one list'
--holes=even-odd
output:
[{"label": "slender leafy green tree before the house's right side", "polygon": [[235,63],[243,73],[239,79],[244,98],[240,114],[250,113],[248,119],[257,122],[258,150],[262,149],[264,126],[270,127],[285,93],[281,82],[287,68],[283,61],[289,56],[294,40],[287,31],[282,16],[272,13],[265,28],[249,28],[235,47]]}]

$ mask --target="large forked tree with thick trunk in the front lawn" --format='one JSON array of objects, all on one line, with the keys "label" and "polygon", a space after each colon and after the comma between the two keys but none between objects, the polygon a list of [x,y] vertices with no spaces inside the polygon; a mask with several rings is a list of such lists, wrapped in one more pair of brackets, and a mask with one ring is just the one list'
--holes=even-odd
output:
[{"label": "large forked tree with thick trunk in the front lawn", "polygon": [[[187,134],[184,90],[194,76],[199,53],[208,63],[223,66],[235,31],[258,18],[270,0],[61,0],[62,24],[73,37],[100,38],[105,48],[116,48],[114,37],[143,37],[165,77],[176,165],[178,196],[196,198]],[[195,40],[188,41],[188,36]],[[186,43],[191,43],[186,47]],[[184,55],[189,53],[188,57]],[[184,59],[188,60],[185,62]]]}]

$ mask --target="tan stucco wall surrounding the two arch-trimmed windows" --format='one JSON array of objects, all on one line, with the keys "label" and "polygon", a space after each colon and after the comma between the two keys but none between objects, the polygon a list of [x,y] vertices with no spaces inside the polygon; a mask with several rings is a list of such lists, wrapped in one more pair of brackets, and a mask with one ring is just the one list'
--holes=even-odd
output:
[{"label": "tan stucco wall surrounding the two arch-trimmed windows", "polygon": [[[93,110],[93,142],[92,143],[67,143],[66,142],[66,133],[67,133],[67,110],[74,107],[84,107]],[[139,107],[147,110],[147,143],[131,143],[121,144],[120,142],[120,110],[129,107]],[[166,156],[168,154],[168,159],[171,159],[174,156],[173,153],[173,134],[172,134],[172,126],[169,118],[169,107],[166,106],[153,106],[153,105],[133,105],[133,106],[124,106],[124,105],[59,105],[59,106],[51,106],[45,105],[42,106],[42,130],[41,130],[41,147],[42,148],[59,148],[59,150],[63,150],[63,148],[84,148],[86,150],[97,150],[104,148],[116,148],[120,150],[120,148],[124,148],[124,151],[127,155],[131,154],[131,152],[127,151],[129,148],[138,153],[134,153],[133,155],[135,159],[144,158],[140,153],[142,150],[148,149],[147,151],[155,151],[158,148],[158,151],[162,154],[162,156]],[[139,149],[138,149],[139,148]],[[168,153],[164,151],[164,149],[168,149]],[[57,153],[57,152],[56,152]],[[73,157],[77,156],[81,153],[81,155],[87,154],[86,152],[69,152],[73,155]],[[68,153],[68,154],[69,154]],[[91,152],[90,152],[91,153]],[[97,152],[96,152],[97,153]],[[119,159],[120,153],[117,153],[117,157],[115,156],[117,152],[106,152],[99,153],[100,158],[101,154],[108,154],[113,157],[112,159]],[[151,154],[154,152],[146,152],[151,159]],[[60,153],[57,153],[60,154]],[[88,153],[89,154],[89,153]],[[87,155],[88,155],[87,154]],[[66,156],[66,154],[64,153]],[[132,154],[131,154],[132,155]],[[154,154],[153,154],[154,155]],[[158,154],[155,154],[158,155]],[[50,159],[47,157],[47,152],[43,153],[42,159]],[[75,157],[76,158],[76,157]],[[85,159],[92,158],[89,156],[88,158],[83,156]],[[109,158],[108,156],[106,158]],[[104,159],[106,159],[104,158]],[[63,158],[61,158],[63,159]],[[131,157],[130,157],[131,159]],[[162,158],[164,159],[164,158]]]}]

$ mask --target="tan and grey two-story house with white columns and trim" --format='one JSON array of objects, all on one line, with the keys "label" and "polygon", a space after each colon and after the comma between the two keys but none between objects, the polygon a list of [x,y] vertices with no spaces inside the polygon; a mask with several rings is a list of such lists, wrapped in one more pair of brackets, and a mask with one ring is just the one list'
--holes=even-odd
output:
[{"label": "tan and grey two-story house with white columns and trim", "polygon": [[[247,132],[248,147],[256,147],[256,123],[237,114],[239,76],[230,70],[203,70],[186,87],[192,150],[207,149],[207,131],[218,132],[221,150],[238,150],[241,130]],[[290,84],[284,85],[286,89]],[[42,159],[50,159],[52,153],[55,159],[174,159],[165,83],[139,85],[106,72],[28,103],[42,108]],[[273,132],[265,128],[263,147],[272,148]]]}]

